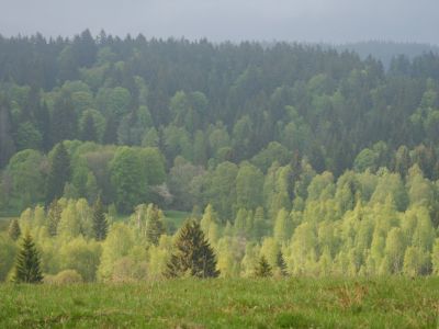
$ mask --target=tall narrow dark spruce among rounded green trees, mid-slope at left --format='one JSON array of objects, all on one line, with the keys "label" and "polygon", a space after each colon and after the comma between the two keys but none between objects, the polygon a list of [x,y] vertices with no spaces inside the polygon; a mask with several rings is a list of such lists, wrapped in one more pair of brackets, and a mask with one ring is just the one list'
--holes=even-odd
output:
[{"label": "tall narrow dark spruce among rounded green trees, mid-slope at left", "polygon": [[47,177],[46,202],[50,203],[54,198],[63,196],[64,186],[70,180],[70,156],[64,143],[55,146],[50,161],[50,170]]}]

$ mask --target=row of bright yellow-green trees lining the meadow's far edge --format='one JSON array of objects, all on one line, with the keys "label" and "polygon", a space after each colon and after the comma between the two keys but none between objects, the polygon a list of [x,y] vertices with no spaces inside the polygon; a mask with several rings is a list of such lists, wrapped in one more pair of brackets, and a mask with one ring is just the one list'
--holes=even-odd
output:
[{"label": "row of bright yellow-green trees lining the meadow's far edge", "polygon": [[[368,192],[374,180],[374,191]],[[115,213],[106,214],[101,222],[109,225],[104,239],[93,225],[100,218],[97,205],[61,198],[47,211],[25,211],[19,225],[11,224],[10,237],[1,236],[0,274],[2,280],[12,276],[16,252],[12,238],[20,230],[34,237],[48,281],[70,273],[65,271],[75,271],[76,277],[88,282],[173,275],[439,274],[438,225],[431,216],[434,188],[416,168],[407,182],[408,201],[398,184],[401,179],[394,173],[352,172],[337,184],[329,173],[323,173],[311,181],[307,198],[297,197],[289,211],[280,207],[270,216],[261,206],[240,208],[234,220],[224,223],[207,205],[203,214],[194,209],[194,219],[176,234],[157,206],[139,205],[125,222],[115,220]],[[57,207],[60,218],[54,230]],[[184,254],[196,260],[188,263]],[[198,265],[191,268],[193,263]]]}]

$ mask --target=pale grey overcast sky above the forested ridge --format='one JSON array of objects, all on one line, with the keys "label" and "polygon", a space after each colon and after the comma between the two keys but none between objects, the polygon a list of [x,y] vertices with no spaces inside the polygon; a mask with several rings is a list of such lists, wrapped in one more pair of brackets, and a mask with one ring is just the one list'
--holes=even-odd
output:
[{"label": "pale grey overcast sky above the forested ridge", "polygon": [[439,44],[439,0],[0,0],[0,34]]}]

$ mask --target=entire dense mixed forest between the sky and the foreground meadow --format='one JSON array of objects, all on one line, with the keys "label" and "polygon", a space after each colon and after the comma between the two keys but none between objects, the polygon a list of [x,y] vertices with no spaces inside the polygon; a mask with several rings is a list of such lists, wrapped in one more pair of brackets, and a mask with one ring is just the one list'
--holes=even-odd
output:
[{"label": "entire dense mixed forest between the sky and the foreground meadow", "polygon": [[47,280],[161,277],[161,209],[222,276],[439,274],[438,141],[434,53],[0,37],[0,280],[25,231]]}]

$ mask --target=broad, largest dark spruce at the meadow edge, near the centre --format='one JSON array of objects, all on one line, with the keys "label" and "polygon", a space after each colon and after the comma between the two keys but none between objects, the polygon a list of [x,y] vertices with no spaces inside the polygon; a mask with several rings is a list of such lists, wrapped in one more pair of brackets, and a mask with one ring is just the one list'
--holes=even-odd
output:
[{"label": "broad, largest dark spruce at the meadow edge, near the centre", "polygon": [[200,224],[187,220],[180,229],[176,241],[176,251],[167,264],[165,273],[168,277],[195,276],[217,277],[216,257],[204,238]]}]

